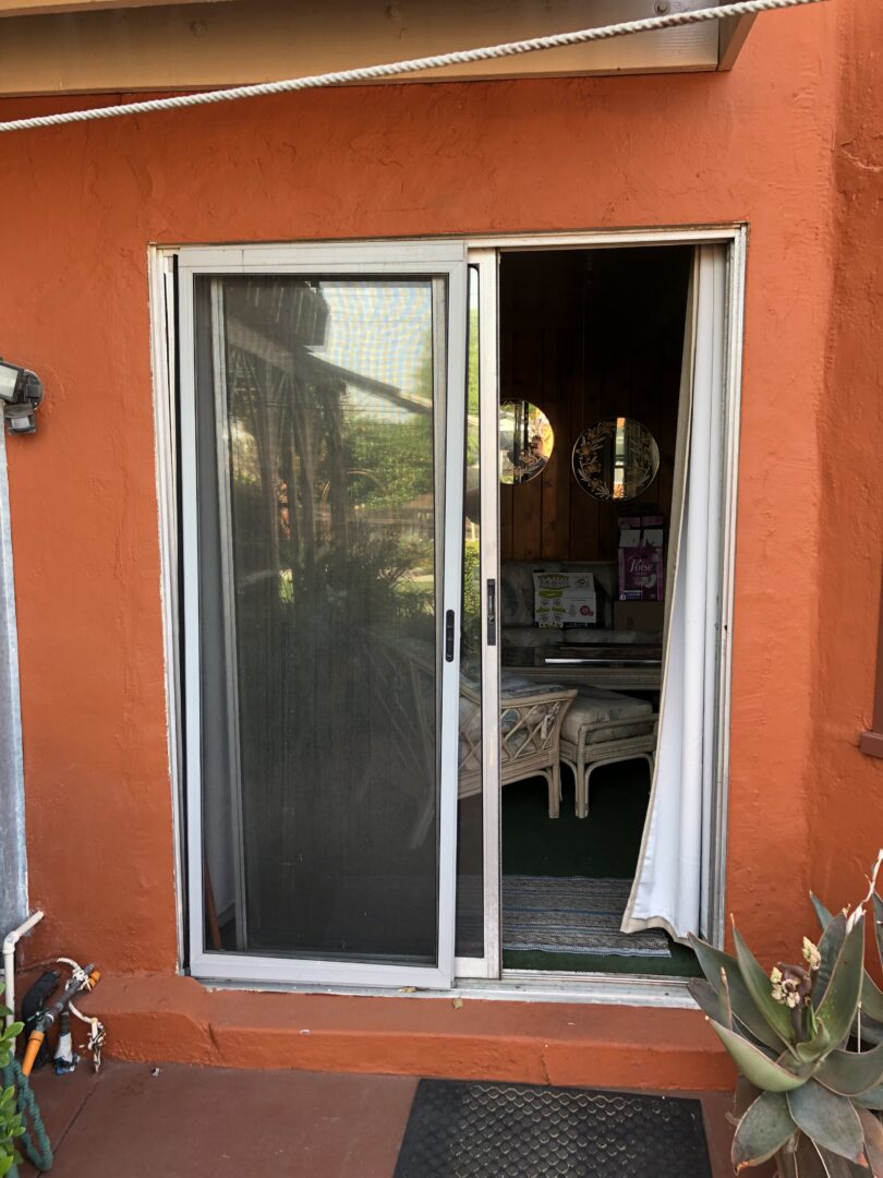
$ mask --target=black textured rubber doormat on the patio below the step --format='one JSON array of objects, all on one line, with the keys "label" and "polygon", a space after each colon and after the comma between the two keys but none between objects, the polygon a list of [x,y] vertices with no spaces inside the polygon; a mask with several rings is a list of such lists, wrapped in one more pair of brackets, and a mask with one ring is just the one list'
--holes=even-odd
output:
[{"label": "black textured rubber doormat on the patio below the step", "polygon": [[698,1100],[420,1080],[394,1178],[711,1178]]}]

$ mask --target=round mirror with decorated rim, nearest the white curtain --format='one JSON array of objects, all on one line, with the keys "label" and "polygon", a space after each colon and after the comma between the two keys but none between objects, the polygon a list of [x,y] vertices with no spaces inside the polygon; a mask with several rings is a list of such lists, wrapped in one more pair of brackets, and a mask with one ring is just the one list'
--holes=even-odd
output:
[{"label": "round mirror with decorated rim, nearest the white curtain", "polygon": [[637,498],[658,470],[659,446],[633,417],[605,417],[583,430],[573,446],[573,477],[595,499]]}]

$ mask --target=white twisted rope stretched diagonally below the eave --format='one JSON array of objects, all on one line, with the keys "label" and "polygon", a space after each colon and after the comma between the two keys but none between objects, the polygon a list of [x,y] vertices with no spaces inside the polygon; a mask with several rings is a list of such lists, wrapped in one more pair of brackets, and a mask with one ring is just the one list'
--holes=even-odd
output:
[{"label": "white twisted rope stretched diagonally below the eave", "polygon": [[540,49],[560,49],[569,45],[606,41],[613,37],[628,37],[631,33],[650,33],[663,28],[679,28],[684,25],[698,25],[709,20],[724,20],[728,16],[753,16],[757,13],[772,12],[777,8],[797,8],[803,5],[819,2],[822,0],[741,0],[738,4],[721,5],[717,8],[668,13],[663,16],[649,16],[645,20],[629,20],[618,25],[602,25],[598,28],[580,28],[572,33],[553,33],[549,37],[535,37],[526,41],[506,41],[503,45],[490,45],[479,49],[460,49],[429,58],[391,61],[379,66],[337,70],[332,73],[311,74],[305,78],[285,78],[281,81],[232,86],[225,90],[210,90],[197,94],[175,94],[172,98],[142,99],[137,102],[121,102],[117,106],[98,106],[85,111],[66,111],[61,114],[42,114],[29,119],[12,119],[8,123],[0,123],[0,132],[29,131],[34,127],[55,127],[67,123],[114,119],[125,114],[147,114],[154,111],[175,111],[186,106],[233,102],[240,98],[287,94],[298,90],[319,90],[324,86],[345,86],[359,81],[377,81],[379,78],[394,78],[397,74],[443,70],[445,66],[471,65],[474,61],[492,61],[497,58],[511,58],[522,53],[536,53]]}]

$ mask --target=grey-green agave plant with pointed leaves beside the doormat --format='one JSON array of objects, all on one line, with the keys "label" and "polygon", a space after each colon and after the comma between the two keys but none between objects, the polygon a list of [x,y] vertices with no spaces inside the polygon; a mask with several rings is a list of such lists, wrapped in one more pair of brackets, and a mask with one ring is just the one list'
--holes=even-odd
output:
[{"label": "grey-green agave plant with pointed leaves beside the doormat", "polygon": [[851,913],[812,898],[823,932],[799,965],[768,975],[735,927],[735,957],[692,939],[706,980],[690,992],[741,1072],[737,1172],[775,1158],[781,1178],[883,1178],[883,992],[864,969],[865,908],[883,964],[879,866]]}]

